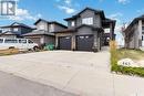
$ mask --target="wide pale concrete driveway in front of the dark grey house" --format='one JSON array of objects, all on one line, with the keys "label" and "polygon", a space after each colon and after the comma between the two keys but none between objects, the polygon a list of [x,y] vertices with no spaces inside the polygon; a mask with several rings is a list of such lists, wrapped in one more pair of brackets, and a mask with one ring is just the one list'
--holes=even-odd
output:
[{"label": "wide pale concrete driveway in front of the dark grey house", "polygon": [[3,56],[0,70],[79,96],[144,96],[143,78],[111,74],[107,50]]}]

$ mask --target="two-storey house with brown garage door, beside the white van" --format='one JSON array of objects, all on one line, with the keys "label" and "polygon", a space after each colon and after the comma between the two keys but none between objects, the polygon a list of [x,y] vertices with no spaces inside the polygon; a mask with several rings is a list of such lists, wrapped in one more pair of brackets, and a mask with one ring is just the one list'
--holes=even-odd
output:
[{"label": "two-storey house with brown garage door, beside the white van", "polygon": [[33,30],[31,33],[24,34],[24,38],[31,39],[33,42],[41,44],[54,44],[55,43],[55,31],[62,31],[66,29],[65,25],[55,22],[55,21],[45,21],[43,19],[39,19],[34,25],[37,30]]}]

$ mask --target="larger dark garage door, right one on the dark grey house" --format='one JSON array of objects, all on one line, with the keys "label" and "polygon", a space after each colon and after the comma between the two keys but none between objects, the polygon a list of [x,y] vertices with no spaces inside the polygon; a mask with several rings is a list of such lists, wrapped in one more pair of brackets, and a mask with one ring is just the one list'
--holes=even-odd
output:
[{"label": "larger dark garage door, right one on the dark grey house", "polygon": [[78,51],[92,51],[93,35],[79,35],[76,36],[76,50]]}]

